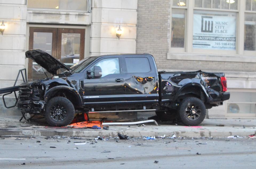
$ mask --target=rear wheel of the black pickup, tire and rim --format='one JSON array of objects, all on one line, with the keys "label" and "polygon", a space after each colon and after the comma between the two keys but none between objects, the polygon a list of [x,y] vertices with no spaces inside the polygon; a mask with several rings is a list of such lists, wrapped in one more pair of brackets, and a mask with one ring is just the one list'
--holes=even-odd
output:
[{"label": "rear wheel of the black pickup, tire and rim", "polygon": [[179,119],[184,125],[196,126],[205,119],[205,104],[198,98],[189,97],[181,102],[178,113]]}]

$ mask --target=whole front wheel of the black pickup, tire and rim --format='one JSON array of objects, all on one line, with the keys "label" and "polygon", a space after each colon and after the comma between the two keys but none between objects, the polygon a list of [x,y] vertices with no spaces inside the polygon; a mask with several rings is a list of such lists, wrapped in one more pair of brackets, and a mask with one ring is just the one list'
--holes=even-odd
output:
[{"label": "whole front wheel of the black pickup, tire and rim", "polygon": [[66,126],[74,119],[74,105],[64,97],[50,99],[45,107],[45,120],[50,126]]}]

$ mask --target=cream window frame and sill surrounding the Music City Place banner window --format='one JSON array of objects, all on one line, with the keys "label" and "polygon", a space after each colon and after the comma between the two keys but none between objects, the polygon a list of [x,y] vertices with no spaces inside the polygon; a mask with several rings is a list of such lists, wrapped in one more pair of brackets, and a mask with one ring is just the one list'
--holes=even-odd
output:
[{"label": "cream window frame and sill surrounding the Music City Place banner window", "polygon": [[[173,0],[171,0],[171,5]],[[171,48],[169,45],[168,60],[198,60],[198,61],[233,61],[233,62],[254,62],[256,63],[254,51],[244,51],[244,23],[245,23],[245,1],[238,0],[237,10],[200,8],[194,7],[194,0],[187,0],[186,7],[178,7],[187,9],[187,19],[185,28],[185,45],[183,50]],[[171,8],[174,8],[171,6]],[[228,11],[237,12],[237,35],[236,50],[209,50],[209,49],[193,49],[193,17],[194,10],[211,10],[211,11]],[[252,12],[252,11],[250,11]],[[253,11],[256,13],[256,11]],[[170,13],[171,15],[171,13]],[[171,35],[171,20],[170,20]],[[171,36],[169,36],[169,39]],[[170,41],[171,43],[171,41]]]}]

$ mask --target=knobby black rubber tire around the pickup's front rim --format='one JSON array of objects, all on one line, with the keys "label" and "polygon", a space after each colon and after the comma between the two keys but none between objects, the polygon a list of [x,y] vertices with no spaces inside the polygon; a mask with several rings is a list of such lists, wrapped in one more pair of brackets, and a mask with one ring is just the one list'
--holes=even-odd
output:
[{"label": "knobby black rubber tire around the pickup's front rim", "polygon": [[[65,110],[66,116],[60,121],[56,121],[51,117],[51,113],[53,113],[54,106],[58,107],[59,105],[60,109],[62,108]],[[50,125],[50,126],[66,126],[71,123],[71,121],[74,119],[75,115],[75,108],[74,105],[70,102],[69,99],[64,98],[64,97],[54,97],[50,99],[45,107],[45,121]]]}]

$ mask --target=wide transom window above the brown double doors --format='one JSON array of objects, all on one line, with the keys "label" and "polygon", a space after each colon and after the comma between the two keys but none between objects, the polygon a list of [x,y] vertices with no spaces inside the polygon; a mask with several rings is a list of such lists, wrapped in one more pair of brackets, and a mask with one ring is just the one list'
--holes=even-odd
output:
[{"label": "wide transom window above the brown double doors", "polygon": [[28,0],[27,9],[88,11],[87,0]]}]

